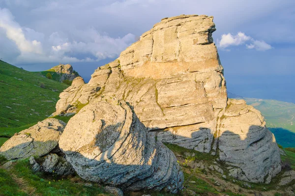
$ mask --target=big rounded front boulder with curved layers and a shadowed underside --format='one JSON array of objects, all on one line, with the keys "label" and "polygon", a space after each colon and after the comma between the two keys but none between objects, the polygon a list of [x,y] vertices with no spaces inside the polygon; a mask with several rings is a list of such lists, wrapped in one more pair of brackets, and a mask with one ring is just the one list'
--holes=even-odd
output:
[{"label": "big rounded front boulder with curved layers and a shadowed underside", "polygon": [[59,147],[86,180],[129,191],[182,189],[176,157],[124,101],[89,103],[69,120]]}]

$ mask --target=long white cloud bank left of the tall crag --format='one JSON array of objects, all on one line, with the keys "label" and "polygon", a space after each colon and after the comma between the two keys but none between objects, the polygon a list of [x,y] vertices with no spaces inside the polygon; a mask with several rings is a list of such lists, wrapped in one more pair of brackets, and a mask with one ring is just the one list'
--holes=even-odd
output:
[{"label": "long white cloud bank left of the tall crag", "polygon": [[44,33],[21,27],[8,9],[0,9],[0,29],[20,51],[14,63],[94,62],[116,58],[135,40],[135,35],[131,33],[113,38],[106,33],[98,33],[94,28],[73,30],[70,40],[58,32],[46,37]]}]

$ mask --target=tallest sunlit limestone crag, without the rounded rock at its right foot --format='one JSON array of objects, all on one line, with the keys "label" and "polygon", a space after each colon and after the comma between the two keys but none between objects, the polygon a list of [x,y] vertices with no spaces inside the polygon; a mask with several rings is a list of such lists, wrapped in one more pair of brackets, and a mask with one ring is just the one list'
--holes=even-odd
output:
[{"label": "tallest sunlit limestone crag, without the rounded rock at its right foot", "polygon": [[88,84],[60,94],[56,114],[77,103],[117,97],[134,107],[149,130],[167,129],[159,135],[165,142],[209,152],[217,112],[227,101],[212,20],[163,19],[117,60],[95,70]]}]

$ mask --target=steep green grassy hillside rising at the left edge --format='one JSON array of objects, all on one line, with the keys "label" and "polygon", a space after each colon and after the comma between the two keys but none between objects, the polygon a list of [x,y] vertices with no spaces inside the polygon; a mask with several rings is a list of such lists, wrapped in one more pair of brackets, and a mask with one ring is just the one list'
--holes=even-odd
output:
[{"label": "steep green grassy hillside rising at the left edge", "polygon": [[0,61],[0,137],[11,136],[47,118],[55,111],[59,93],[67,87]]}]

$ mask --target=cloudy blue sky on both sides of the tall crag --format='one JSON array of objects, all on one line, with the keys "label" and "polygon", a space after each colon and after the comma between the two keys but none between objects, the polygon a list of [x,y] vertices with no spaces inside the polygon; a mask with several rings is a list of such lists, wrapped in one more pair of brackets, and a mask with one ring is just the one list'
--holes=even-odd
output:
[{"label": "cloudy blue sky on both sides of the tall crag", "polygon": [[227,88],[295,103],[295,0],[0,0],[0,58],[86,81],[162,18],[214,16]]}]

